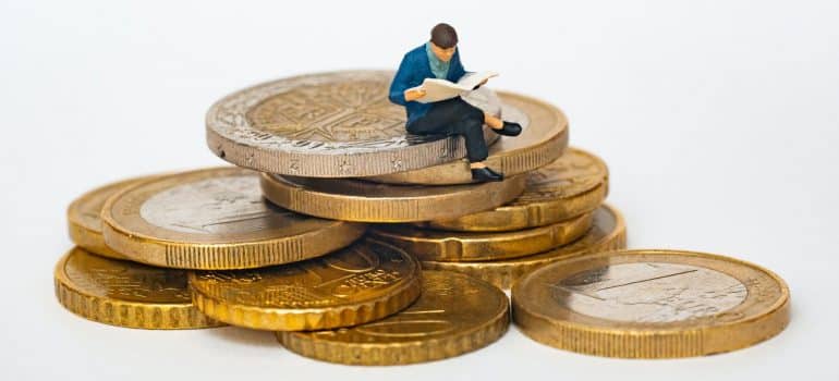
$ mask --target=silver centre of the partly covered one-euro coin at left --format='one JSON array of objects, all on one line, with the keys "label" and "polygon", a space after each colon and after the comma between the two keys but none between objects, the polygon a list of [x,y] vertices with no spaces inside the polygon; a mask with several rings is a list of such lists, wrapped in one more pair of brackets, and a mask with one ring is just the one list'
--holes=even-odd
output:
[{"label": "silver centre of the partly covered one-euro coin at left", "polygon": [[265,204],[256,175],[175,186],[149,197],[139,208],[139,216],[156,226],[193,234],[257,232],[282,224],[288,220],[284,214]]}]

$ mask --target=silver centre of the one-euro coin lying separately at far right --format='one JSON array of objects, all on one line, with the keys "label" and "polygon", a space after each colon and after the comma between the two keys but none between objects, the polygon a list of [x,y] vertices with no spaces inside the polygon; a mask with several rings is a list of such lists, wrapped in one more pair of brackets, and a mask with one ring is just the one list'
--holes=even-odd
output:
[{"label": "silver centre of the one-euro coin lying separately at far right", "polygon": [[743,283],[725,273],[685,265],[607,266],[549,284],[560,305],[595,318],[676,322],[713,316],[745,300]]}]

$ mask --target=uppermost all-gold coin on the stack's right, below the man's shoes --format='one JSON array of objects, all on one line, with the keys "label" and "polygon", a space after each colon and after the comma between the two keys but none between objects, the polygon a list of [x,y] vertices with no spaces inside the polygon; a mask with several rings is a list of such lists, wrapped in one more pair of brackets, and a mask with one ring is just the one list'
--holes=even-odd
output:
[{"label": "uppermost all-gold coin on the stack's right, below the man's shoes", "polygon": [[430,229],[499,232],[544,226],[596,209],[606,199],[608,169],[598,157],[569,148],[552,163],[527,175],[516,199],[488,211],[450,220],[421,222]]}]

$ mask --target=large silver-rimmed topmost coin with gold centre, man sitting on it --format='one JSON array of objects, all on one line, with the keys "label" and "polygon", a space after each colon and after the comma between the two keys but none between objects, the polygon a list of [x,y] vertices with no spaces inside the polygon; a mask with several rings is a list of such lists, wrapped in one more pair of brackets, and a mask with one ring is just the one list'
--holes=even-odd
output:
[{"label": "large silver-rimmed topmost coin with gold centre, man sitting on it", "polygon": [[[234,93],[207,112],[207,145],[240,167],[306,177],[370,176],[463,158],[460,137],[406,133],[404,109],[387,97],[392,76],[311,74]],[[475,97],[484,110],[500,110],[497,97]],[[488,142],[498,137],[484,132]]]}]

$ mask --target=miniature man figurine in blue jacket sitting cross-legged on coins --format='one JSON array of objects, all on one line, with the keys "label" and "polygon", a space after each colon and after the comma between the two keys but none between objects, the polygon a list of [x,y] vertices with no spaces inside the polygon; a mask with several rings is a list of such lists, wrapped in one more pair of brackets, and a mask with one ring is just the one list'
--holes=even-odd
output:
[{"label": "miniature man figurine in blue jacket sitting cross-legged on coins", "polygon": [[411,90],[422,85],[425,78],[445,78],[457,83],[464,74],[466,72],[458,52],[457,32],[449,24],[437,24],[431,29],[431,39],[409,51],[402,59],[393,83],[390,84],[390,101],[405,107],[405,130],[411,134],[462,135],[466,140],[466,157],[473,181],[501,181],[503,174],[487,168],[484,162],[488,153],[483,126],[486,124],[497,134],[506,136],[519,135],[522,126],[490,115],[461,97],[421,103],[416,100],[423,98],[426,91]]}]

